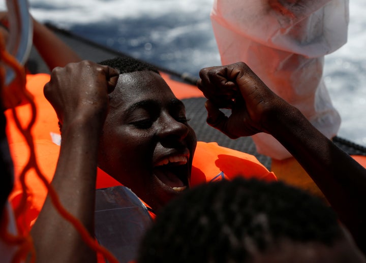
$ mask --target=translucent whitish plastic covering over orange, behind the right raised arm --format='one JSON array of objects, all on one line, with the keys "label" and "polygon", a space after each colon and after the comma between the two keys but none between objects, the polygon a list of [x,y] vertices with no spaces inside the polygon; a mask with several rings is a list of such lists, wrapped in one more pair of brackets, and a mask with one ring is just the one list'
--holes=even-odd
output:
[{"label": "translucent whitish plastic covering over orange, behind the right raised arm", "polygon": [[[347,42],[348,0],[215,0],[211,21],[222,64],[246,62],[325,136],[337,134],[322,74],[324,55]],[[261,154],[291,156],[267,134],[253,140]]]}]

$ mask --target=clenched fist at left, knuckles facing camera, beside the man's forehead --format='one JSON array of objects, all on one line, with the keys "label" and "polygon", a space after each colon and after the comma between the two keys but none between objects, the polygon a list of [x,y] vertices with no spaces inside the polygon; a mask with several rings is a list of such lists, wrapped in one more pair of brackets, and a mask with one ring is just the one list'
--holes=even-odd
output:
[{"label": "clenched fist at left, knuckles facing camera, beside the man's forehead", "polygon": [[108,93],[117,84],[118,76],[108,66],[84,60],[55,68],[43,91],[63,128],[73,120],[104,123]]}]

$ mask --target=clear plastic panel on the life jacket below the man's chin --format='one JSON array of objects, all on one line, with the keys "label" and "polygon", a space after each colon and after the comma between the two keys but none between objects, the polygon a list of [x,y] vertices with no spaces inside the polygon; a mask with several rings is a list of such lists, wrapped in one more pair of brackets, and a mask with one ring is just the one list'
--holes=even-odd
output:
[{"label": "clear plastic panel on the life jacket below the man's chin", "polygon": [[129,188],[114,186],[96,191],[95,235],[119,262],[137,257],[137,248],[151,225],[146,206]]}]

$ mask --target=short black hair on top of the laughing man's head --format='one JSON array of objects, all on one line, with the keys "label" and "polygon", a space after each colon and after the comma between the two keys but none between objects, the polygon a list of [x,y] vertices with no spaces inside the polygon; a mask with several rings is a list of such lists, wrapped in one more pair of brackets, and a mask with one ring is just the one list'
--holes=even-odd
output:
[{"label": "short black hair on top of the laughing man's head", "polygon": [[108,65],[109,67],[118,70],[119,74],[131,73],[136,71],[153,71],[160,74],[158,69],[154,67],[154,65],[129,56],[121,56],[103,60],[99,62],[99,64]]}]

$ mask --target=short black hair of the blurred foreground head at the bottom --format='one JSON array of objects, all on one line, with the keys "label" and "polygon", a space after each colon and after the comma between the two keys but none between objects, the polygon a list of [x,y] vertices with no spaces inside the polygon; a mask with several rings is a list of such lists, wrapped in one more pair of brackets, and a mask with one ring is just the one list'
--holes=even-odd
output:
[{"label": "short black hair of the blurred foreground head at the bottom", "polygon": [[335,213],[315,196],[281,182],[238,178],[171,201],[147,231],[137,262],[245,262],[248,244],[259,252],[280,238],[330,246],[341,233]]}]

